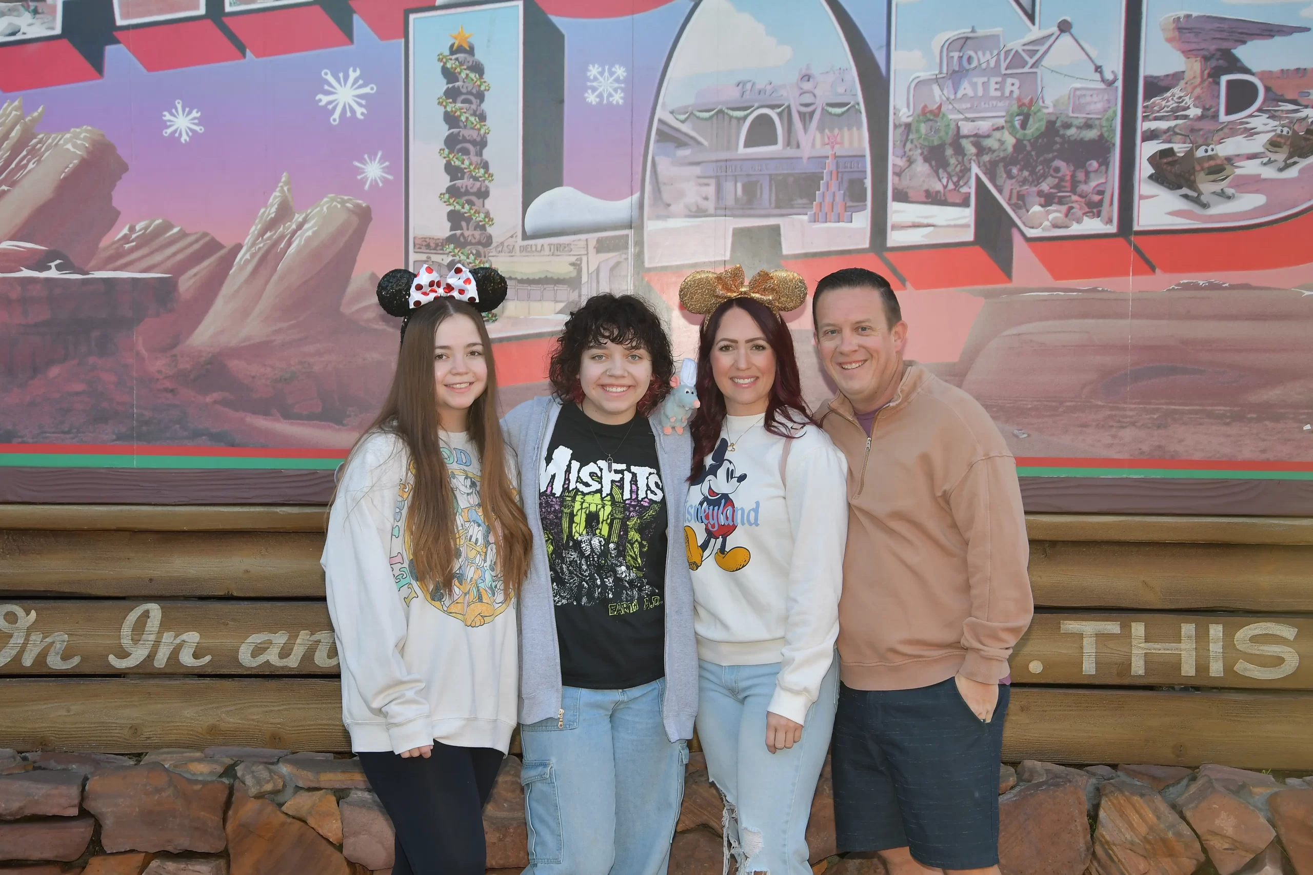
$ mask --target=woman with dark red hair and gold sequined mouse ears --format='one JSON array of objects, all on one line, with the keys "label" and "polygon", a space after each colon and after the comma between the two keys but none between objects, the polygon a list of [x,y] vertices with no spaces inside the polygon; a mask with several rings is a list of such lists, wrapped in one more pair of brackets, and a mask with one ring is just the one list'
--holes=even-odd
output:
[{"label": "woman with dark red hair and gold sequined mouse ears", "polygon": [[688,310],[710,310],[684,509],[697,737],[725,796],[738,871],[806,875],[807,817],[839,695],[848,468],[807,413],[777,312],[806,299],[802,279],[763,272],[741,289],[742,273],[726,274],[713,295],[697,294],[699,274],[681,289]]}]

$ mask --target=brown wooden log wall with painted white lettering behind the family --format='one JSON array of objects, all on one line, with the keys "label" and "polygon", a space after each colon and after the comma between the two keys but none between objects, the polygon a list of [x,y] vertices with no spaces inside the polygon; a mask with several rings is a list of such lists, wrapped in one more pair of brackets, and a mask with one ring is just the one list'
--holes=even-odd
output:
[{"label": "brown wooden log wall with painted white lettering behind the family", "polygon": [[[323,522],[0,505],[0,748],[345,750]],[[1006,760],[1313,769],[1313,519],[1027,523]]]}]

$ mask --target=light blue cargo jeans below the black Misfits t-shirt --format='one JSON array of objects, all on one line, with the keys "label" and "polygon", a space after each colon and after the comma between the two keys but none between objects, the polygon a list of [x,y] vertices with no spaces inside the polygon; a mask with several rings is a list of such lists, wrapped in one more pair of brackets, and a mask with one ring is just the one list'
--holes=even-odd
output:
[{"label": "light blue cargo jeans below the black Misfits t-shirt", "polygon": [[561,691],[562,718],[521,724],[524,875],[666,875],[688,744],[662,724],[666,681]]}]

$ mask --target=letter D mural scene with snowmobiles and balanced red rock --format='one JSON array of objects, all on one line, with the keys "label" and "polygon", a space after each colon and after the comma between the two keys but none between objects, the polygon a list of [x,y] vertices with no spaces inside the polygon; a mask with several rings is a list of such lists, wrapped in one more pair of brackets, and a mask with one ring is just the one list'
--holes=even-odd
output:
[{"label": "letter D mural scene with snowmobiles and balanced red rock", "polygon": [[[1313,29],[1278,3],[1145,10],[1137,227],[1243,224],[1313,201]],[[1234,8],[1230,9],[1232,12]]]}]

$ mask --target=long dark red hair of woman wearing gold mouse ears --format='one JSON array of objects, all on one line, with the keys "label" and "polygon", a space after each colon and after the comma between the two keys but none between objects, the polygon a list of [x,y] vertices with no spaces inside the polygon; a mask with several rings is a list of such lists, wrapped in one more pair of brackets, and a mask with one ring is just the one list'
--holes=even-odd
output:
[{"label": "long dark red hair of woman wearing gold mouse ears", "polygon": [[798,359],[793,354],[793,336],[789,333],[789,327],[759,300],[730,298],[702,321],[699,335],[697,400],[701,405],[693,411],[689,422],[689,432],[693,436],[693,471],[688,478],[689,483],[702,476],[706,457],[716,449],[721,428],[725,425],[725,395],[716,384],[716,375],[712,374],[712,348],[716,345],[716,335],[721,329],[725,314],[734,308],[752,317],[771,352],[775,353],[775,382],[771,383],[771,396],[765,405],[765,430],[793,439],[797,436],[790,426],[815,424],[806,401],[802,400],[802,379],[798,376]]}]

